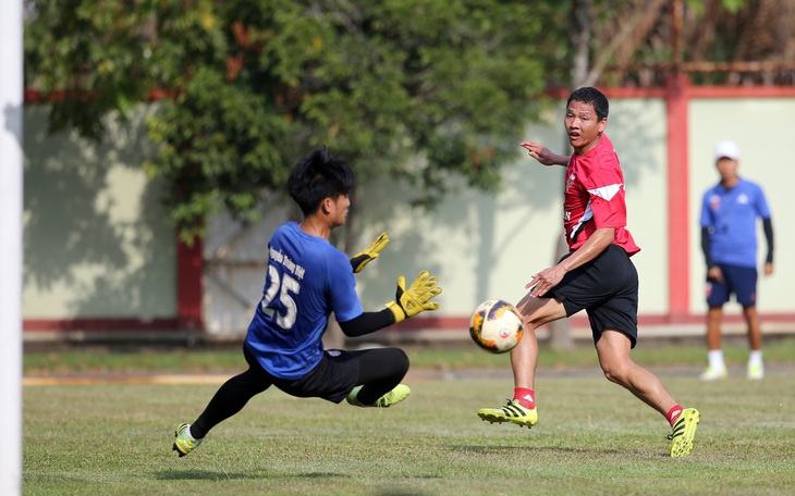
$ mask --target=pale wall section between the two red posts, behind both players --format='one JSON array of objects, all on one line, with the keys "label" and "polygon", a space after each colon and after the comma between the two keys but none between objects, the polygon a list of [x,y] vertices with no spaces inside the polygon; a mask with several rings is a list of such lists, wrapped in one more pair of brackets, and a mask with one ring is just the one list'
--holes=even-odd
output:
[{"label": "pale wall section between the two red posts, behind both players", "polygon": [[[567,153],[563,107],[558,104],[545,122],[528,126],[525,138]],[[661,100],[613,101],[607,131],[624,168],[628,227],[643,249],[633,260],[640,273],[640,311],[646,313],[668,310],[664,110]],[[516,147],[518,150],[518,142]],[[555,261],[562,231],[563,174],[564,168],[543,166],[521,153],[504,170],[499,193],[451,185],[453,191],[432,212],[409,210],[409,187],[389,177],[360,185],[362,247],[383,231],[391,238],[378,261],[357,277],[364,308],[375,310],[393,299],[397,276],[403,274],[411,281],[421,269],[437,275],[444,288],[438,315],[468,317],[477,303],[489,298],[517,301],[531,275]],[[229,219],[220,219],[212,224],[218,231],[213,230],[207,240],[207,257],[224,244],[221,238],[235,232]],[[245,260],[262,253],[268,237],[284,219],[284,210],[273,211],[261,226],[237,239],[241,253],[229,258]],[[246,243],[259,248],[244,247]],[[215,277],[206,281],[205,312],[211,332],[223,334],[229,325],[248,325],[261,294],[264,273],[262,268],[252,270],[256,275],[237,271],[229,278],[234,281],[236,293],[248,298],[247,306],[233,301]],[[227,305],[231,312],[223,310]]]}]

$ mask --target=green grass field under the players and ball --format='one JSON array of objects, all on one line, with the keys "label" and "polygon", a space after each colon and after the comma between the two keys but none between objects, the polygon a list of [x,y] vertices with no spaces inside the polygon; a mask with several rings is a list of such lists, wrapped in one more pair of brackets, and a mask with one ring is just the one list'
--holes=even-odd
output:
[{"label": "green grass field under the players and ball", "polygon": [[[413,393],[394,408],[358,409],[272,389],[216,427],[200,448],[183,459],[171,451],[173,430],[195,419],[216,384],[26,386],[23,493],[772,495],[793,491],[795,356],[790,355],[790,363],[775,360],[760,382],[735,374],[702,383],[689,373],[687,363],[673,369],[650,364],[680,402],[701,411],[693,455],[671,459],[664,419],[607,382],[594,351],[588,351],[562,354],[554,364],[540,367],[540,421],[533,430],[491,425],[476,416],[478,408],[501,404],[511,394],[505,357],[484,367],[481,359],[491,363],[494,358],[475,355],[474,363],[457,367],[451,357],[458,351],[437,350],[432,358],[409,354],[414,368],[406,383]],[[658,355],[666,352],[662,348]],[[736,354],[737,360],[742,358],[742,348]],[[140,370],[140,362],[163,358],[111,355],[94,370],[130,372]],[[72,360],[53,354],[39,358],[26,356],[26,374],[46,373],[49,365],[42,363]],[[212,367],[227,370],[218,363]]]}]

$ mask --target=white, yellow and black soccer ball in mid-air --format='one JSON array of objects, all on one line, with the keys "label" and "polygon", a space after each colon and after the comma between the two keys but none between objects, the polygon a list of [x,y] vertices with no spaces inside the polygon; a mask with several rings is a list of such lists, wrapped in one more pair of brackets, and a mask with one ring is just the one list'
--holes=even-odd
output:
[{"label": "white, yellow and black soccer ball in mid-air", "polygon": [[476,345],[492,354],[510,351],[522,339],[524,325],[516,307],[500,299],[478,305],[469,319],[469,335]]}]

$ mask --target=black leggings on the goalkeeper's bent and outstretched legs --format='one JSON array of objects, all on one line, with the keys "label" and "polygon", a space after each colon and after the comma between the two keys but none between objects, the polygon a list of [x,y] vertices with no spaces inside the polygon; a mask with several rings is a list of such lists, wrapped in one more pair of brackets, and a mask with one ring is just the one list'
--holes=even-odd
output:
[{"label": "black leggings on the goalkeeper's bent and outstretched legs", "polygon": [[[280,381],[268,374],[257,362],[256,358],[243,347],[248,370],[242,374],[227,381],[212,397],[205,408],[205,411],[191,425],[191,434],[193,437],[200,439],[219,423],[234,416],[243,409],[243,407],[254,396],[262,393],[271,385],[284,388],[284,381]],[[408,372],[408,357],[400,348],[375,348],[358,351],[342,351],[348,362],[358,362],[358,373],[354,385],[362,385],[362,389],[357,395],[359,402],[371,405],[378,398],[392,390],[401,383]],[[350,367],[350,365],[343,365]],[[355,365],[354,365],[355,370]],[[344,371],[343,371],[344,372]],[[340,377],[337,377],[340,379]],[[350,392],[351,386],[345,386],[342,396],[340,396],[339,387],[332,397],[321,394],[294,394],[293,390],[286,390],[293,396],[315,396],[323,397],[332,401],[339,402]]]}]

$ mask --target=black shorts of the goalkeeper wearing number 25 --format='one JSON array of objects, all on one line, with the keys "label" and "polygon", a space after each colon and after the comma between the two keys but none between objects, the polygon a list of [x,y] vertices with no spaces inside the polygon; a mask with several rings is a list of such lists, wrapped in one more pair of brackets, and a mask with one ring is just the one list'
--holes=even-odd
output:
[{"label": "black shorts of the goalkeeper wearing number 25", "polygon": [[243,355],[253,371],[264,374],[262,381],[298,398],[322,398],[339,404],[356,386],[359,375],[359,361],[354,351],[326,350],[317,367],[298,380],[284,380],[269,374],[245,345]]}]

